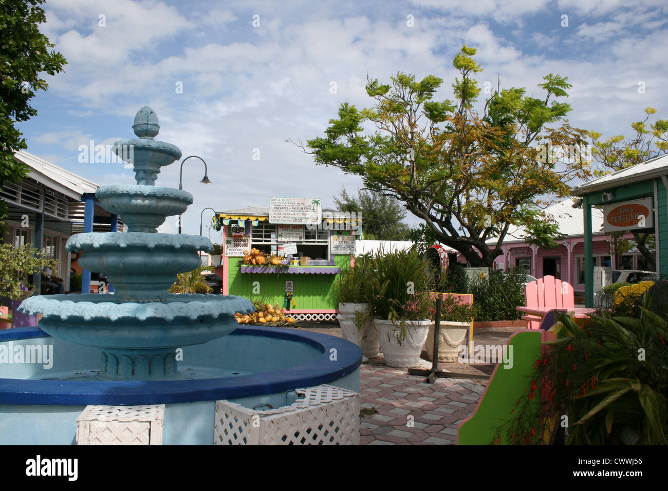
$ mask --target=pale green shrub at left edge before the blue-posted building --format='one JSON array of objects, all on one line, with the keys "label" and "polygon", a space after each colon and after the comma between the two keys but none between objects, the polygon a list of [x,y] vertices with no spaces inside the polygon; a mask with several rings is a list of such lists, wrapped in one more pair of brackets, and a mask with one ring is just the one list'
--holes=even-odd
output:
[{"label": "pale green shrub at left edge before the blue-posted building", "polygon": [[19,300],[26,292],[21,287],[33,289],[29,283],[29,275],[41,273],[49,267],[57,270],[58,262],[46,253],[41,253],[32,244],[13,247],[11,244],[0,243],[0,297]]}]

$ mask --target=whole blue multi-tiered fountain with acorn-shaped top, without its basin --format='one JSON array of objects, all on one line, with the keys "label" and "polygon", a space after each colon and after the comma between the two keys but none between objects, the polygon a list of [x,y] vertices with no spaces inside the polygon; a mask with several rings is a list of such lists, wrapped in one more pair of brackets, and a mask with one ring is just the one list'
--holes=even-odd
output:
[{"label": "whole blue multi-tiered fountain with acorn-shaped top, without its basin", "polygon": [[167,216],[192,204],[192,194],[155,185],[160,168],[181,156],[176,146],[154,140],[160,130],[155,112],[140,109],[132,128],[138,138],[116,142],[114,149],[134,165],[137,184],[96,192],[102,208],[128,224],[128,233],[75,234],[66,246],[81,251],[81,267],[106,274],[116,293],[37,296],[21,308],[43,315],[42,331],[100,348],[98,377],[174,379],[178,348],[228,335],[238,327],[234,313],[254,308],[242,297],[168,293],[177,273],[198,267],[198,251],[210,252],[213,245],[199,235],[156,232]]}]

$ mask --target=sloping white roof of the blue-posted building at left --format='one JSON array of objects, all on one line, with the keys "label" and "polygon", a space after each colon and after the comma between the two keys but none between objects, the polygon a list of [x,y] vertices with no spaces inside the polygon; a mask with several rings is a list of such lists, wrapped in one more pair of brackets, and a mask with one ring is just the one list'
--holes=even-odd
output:
[{"label": "sloping white roof of the blue-posted building at left", "polygon": [[77,201],[85,193],[94,193],[100,186],[86,178],[77,176],[51,162],[47,162],[33,154],[19,150],[14,154],[29,167],[28,176],[49,188],[65,194]]}]

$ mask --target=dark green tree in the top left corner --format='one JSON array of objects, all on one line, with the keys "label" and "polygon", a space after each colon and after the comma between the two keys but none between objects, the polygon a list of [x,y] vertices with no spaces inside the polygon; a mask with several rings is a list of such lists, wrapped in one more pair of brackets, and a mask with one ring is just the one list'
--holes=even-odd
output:
[{"label": "dark green tree in the top left corner", "polygon": [[[47,90],[41,73],[55,75],[67,63],[63,55],[48,50],[54,45],[39,32],[39,24],[45,22],[41,3],[44,0],[0,1],[0,188],[27,173],[14,158],[17,150],[27,148],[14,125],[37,115],[29,101],[33,91]],[[0,218],[6,215],[7,204],[0,200]]]}]

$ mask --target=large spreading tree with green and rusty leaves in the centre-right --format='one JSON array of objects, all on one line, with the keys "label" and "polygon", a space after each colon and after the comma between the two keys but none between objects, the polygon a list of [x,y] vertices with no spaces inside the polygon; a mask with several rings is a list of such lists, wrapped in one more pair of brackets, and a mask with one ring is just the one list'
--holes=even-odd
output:
[{"label": "large spreading tree with green and rusty leaves in the centre-right", "polygon": [[[310,151],[297,145],[316,164],[361,176],[365,188],[403,202],[470,265],[490,267],[512,225],[524,226],[533,243],[552,245],[558,224],[544,208],[570,194],[570,180],[590,172],[589,162],[556,159],[538,148],[542,140],[552,148],[586,144],[585,130],[567,122],[546,126],[570,111],[554,100],[568,96],[566,77],[546,75],[538,84],[542,99],[526,96],[524,88],[497,89],[478,114],[480,88],[472,76],[482,69],[475,53],[464,46],[454,58],[461,75],[452,86],[455,102],[434,100],[443,81],[434,75],[418,81],[399,72],[391,84],[369,79],[373,108],[342,104],[325,136],[308,140]],[[364,122],[377,130],[365,134]]]}]

